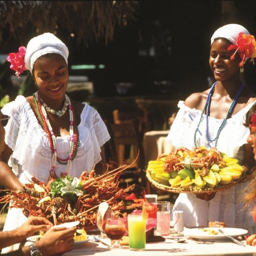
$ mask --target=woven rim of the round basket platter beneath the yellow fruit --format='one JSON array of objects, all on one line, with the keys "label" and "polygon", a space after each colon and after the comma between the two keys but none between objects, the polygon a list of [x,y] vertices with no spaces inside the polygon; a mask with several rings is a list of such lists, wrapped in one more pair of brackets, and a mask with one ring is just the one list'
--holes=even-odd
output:
[{"label": "woven rim of the round basket platter beneath the yellow fruit", "polygon": [[241,175],[241,177],[237,180],[232,181],[231,183],[228,183],[226,185],[218,185],[215,188],[206,188],[206,189],[197,189],[196,187],[190,187],[189,189],[183,189],[183,188],[172,188],[171,186],[166,186],[161,183],[158,183],[157,181],[153,180],[150,176],[150,173],[146,171],[146,177],[148,181],[157,189],[161,189],[166,192],[172,192],[172,193],[192,193],[192,194],[202,194],[202,193],[209,193],[209,192],[219,192],[225,189],[229,189],[230,187],[236,185],[239,182],[242,182],[244,179],[244,175]]}]

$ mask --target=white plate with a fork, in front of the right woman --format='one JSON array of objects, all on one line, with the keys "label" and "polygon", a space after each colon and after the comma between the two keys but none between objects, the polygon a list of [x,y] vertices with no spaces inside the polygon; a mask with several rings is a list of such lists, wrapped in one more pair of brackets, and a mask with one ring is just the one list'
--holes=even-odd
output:
[{"label": "white plate with a fork, in front of the right woman", "polygon": [[[233,227],[206,227],[204,229],[207,230],[215,230],[218,231],[223,230],[227,235],[230,235],[232,237],[238,237],[242,236],[248,233],[247,230],[241,229],[241,228],[233,228]],[[228,239],[227,236],[219,233],[218,235],[212,235],[205,231],[202,231],[202,229],[198,228],[192,228],[192,229],[186,229],[183,231],[184,235],[190,236],[191,238],[195,239],[207,239],[207,240],[221,240],[221,239]]]}]

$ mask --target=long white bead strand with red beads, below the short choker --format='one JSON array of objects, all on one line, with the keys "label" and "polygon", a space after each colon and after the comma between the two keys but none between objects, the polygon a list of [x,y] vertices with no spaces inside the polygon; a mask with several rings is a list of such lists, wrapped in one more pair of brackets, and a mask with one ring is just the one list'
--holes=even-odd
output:
[{"label": "long white bead strand with red beads, below the short choker", "polygon": [[[36,99],[38,101],[38,97],[39,94],[38,92],[35,93],[35,96],[36,96]],[[74,145],[75,145],[75,138],[74,138],[74,116],[73,116],[73,111],[72,111],[72,107],[71,107],[71,102],[70,102],[70,99],[69,97],[65,94],[65,98],[68,102],[68,107],[69,107],[69,114],[70,114],[70,148],[69,148],[69,154],[68,154],[68,160],[67,160],[67,166],[66,166],[66,170],[64,172],[64,176],[68,175],[69,173],[69,169],[70,169],[70,164],[72,162],[72,152],[73,152],[73,149],[74,149]],[[50,169],[50,172],[55,172],[55,168],[57,166],[57,140],[56,140],[56,137],[55,137],[55,134],[52,130],[52,126],[49,122],[49,119],[48,119],[48,116],[47,116],[47,113],[46,113],[46,110],[44,108],[44,105],[41,105],[41,110],[42,110],[42,113],[44,115],[44,118],[46,120],[46,123],[47,123],[47,127],[51,133],[51,136],[52,136],[52,146],[53,146],[53,154],[52,154],[52,167]]]}]

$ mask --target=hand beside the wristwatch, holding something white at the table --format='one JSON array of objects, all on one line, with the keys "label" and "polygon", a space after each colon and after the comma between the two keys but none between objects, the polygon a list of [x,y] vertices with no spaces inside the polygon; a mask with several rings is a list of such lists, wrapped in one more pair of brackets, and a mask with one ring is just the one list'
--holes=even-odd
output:
[{"label": "hand beside the wristwatch, holding something white at the table", "polygon": [[76,227],[56,227],[49,229],[37,242],[35,247],[41,251],[43,256],[61,255],[74,248],[73,236]]}]

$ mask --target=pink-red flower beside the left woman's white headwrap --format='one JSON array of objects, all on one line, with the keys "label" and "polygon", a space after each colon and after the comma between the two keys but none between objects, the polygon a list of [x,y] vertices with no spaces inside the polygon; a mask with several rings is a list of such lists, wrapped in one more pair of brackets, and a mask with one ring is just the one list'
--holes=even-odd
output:
[{"label": "pink-red flower beside the left woman's white headwrap", "polygon": [[11,62],[10,69],[15,70],[15,75],[20,77],[20,74],[23,73],[24,70],[27,70],[25,67],[25,54],[26,54],[26,47],[21,46],[18,52],[9,53],[8,57],[6,58],[7,61]]}]

